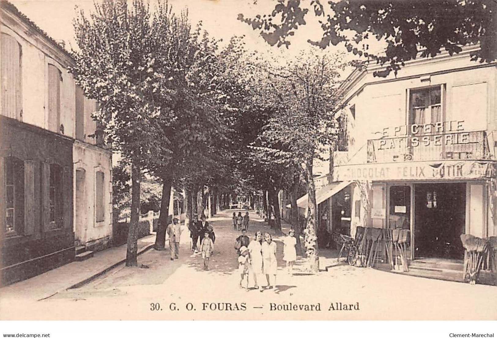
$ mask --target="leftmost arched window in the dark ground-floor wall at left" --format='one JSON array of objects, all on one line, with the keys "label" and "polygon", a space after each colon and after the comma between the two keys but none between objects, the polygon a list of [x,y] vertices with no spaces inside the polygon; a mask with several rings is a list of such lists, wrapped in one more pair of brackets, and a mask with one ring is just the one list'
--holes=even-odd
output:
[{"label": "leftmost arched window in the dark ground-floor wall at left", "polygon": [[24,165],[15,157],[5,157],[5,232],[19,233],[23,226]]}]

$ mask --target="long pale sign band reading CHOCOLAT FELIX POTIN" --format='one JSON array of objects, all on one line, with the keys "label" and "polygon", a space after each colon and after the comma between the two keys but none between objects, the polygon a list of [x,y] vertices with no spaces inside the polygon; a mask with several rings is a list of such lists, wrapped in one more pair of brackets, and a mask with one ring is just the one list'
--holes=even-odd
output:
[{"label": "long pale sign band reading CHOCOLAT FELIX POTIN", "polygon": [[461,180],[496,177],[490,161],[431,161],[342,165],[333,169],[333,181]]}]

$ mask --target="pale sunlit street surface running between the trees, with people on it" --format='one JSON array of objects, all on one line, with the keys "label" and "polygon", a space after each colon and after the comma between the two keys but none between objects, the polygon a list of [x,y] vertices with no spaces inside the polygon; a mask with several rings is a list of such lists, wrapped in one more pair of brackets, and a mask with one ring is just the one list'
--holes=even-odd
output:
[{"label": "pale sunlit street surface running between the trees, with people on it", "polygon": [[[344,262],[336,265],[335,258],[327,260],[325,257],[321,258],[323,265],[330,262],[334,265],[328,271],[310,274],[305,271],[305,260],[300,258],[295,274],[289,276],[282,261],[283,237],[269,229],[254,212],[250,212],[250,218],[250,239],[255,231],[269,232],[277,244],[276,292],[254,289],[246,292],[245,288],[239,288],[237,254],[233,245],[240,232],[233,229],[231,210],[227,210],[209,220],[216,231],[216,246],[209,271],[202,269],[201,256],[190,251],[189,234],[185,230],[179,259],[172,262],[167,251],[149,250],[138,257],[140,266],[148,268],[129,268],[122,264],[82,287],[61,291],[40,301],[28,299],[29,291],[14,295],[16,284],[6,287],[2,289],[0,306],[4,308],[8,304],[9,311],[2,312],[2,320],[496,318],[495,297],[489,297],[489,292],[495,287],[490,285],[470,286],[416,278],[350,267]],[[288,229],[289,224],[283,223],[283,231]],[[420,297],[416,290],[423,290],[423,296]],[[451,300],[454,294],[458,295],[457,303]],[[447,306],[449,302],[451,306]],[[409,311],[406,310],[407,304],[410,305]],[[470,313],[465,309],[473,311]]]}]

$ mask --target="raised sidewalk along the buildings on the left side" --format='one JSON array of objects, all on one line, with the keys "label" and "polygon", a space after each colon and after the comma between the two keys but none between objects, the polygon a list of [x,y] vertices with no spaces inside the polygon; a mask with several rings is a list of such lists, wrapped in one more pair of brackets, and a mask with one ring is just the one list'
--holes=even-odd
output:
[{"label": "raised sidewalk along the buildings on the left side", "polygon": [[[154,246],[156,235],[148,235],[138,240],[138,255]],[[60,291],[83,284],[126,259],[126,244],[95,252],[92,258],[83,262],[72,262],[57,269],[47,271],[32,278],[0,288],[1,300],[24,298],[40,300]],[[138,263],[140,265],[140,263]]]}]

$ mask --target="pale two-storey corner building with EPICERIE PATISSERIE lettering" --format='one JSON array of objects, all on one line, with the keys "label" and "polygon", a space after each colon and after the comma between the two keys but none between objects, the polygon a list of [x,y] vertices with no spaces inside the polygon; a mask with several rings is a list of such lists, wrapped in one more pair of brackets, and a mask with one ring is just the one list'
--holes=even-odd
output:
[{"label": "pale two-storey corner building with EPICERIE PATISSERIE lettering", "polygon": [[409,229],[409,260],[462,262],[461,234],[497,234],[497,68],[472,62],[475,50],[345,81],[348,135],[333,181],[351,182],[352,236],[357,226]]}]

